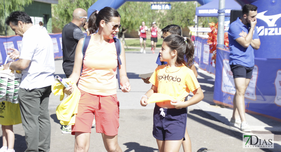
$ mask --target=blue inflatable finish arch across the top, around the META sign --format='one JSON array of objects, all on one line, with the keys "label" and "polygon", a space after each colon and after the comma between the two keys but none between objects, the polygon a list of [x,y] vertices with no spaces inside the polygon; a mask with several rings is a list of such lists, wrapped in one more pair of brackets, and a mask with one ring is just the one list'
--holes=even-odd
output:
[{"label": "blue inflatable finish arch across the top, around the META sign", "polygon": [[[88,9],[88,17],[94,12],[94,10],[101,10],[102,8],[108,6],[112,8],[119,8],[126,1],[134,2],[178,2],[178,1],[194,1],[194,0],[98,0]],[[204,5],[209,3],[212,0],[196,0],[199,4]]]}]

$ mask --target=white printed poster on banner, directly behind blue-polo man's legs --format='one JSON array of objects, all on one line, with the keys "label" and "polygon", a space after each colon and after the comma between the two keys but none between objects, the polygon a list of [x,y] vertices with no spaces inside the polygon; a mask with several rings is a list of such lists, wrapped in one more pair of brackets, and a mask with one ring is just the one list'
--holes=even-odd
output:
[{"label": "white printed poster on banner, directly behind blue-polo man's legs", "polygon": [[[245,98],[256,100],[256,85],[257,85],[258,67],[254,66],[252,78],[245,92]],[[234,85],[234,78],[232,71],[229,66],[229,60],[223,60],[223,70],[222,70],[222,84],[221,91],[234,95],[236,92]]]}]

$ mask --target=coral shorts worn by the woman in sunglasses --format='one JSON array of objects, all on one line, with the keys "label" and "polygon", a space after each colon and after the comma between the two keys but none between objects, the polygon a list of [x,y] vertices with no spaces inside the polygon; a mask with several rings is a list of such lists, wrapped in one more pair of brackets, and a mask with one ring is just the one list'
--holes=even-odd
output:
[{"label": "coral shorts worn by the woman in sunglasses", "polygon": [[80,90],[81,97],[78,104],[78,114],[72,125],[72,135],[75,131],[91,133],[94,115],[96,117],[96,132],[108,136],[118,134],[119,101],[116,94],[100,96]]}]

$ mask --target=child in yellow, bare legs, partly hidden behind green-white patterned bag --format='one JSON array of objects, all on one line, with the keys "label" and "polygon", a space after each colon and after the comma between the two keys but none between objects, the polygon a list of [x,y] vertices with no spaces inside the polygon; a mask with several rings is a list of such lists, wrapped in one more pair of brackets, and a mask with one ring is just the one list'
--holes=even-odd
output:
[{"label": "child in yellow, bare legs, partly hidden behind green-white patterned bag", "polygon": [[15,134],[13,132],[13,125],[21,123],[21,112],[19,103],[11,103],[2,101],[0,103],[0,124],[2,125],[3,146],[0,152],[15,152]]}]

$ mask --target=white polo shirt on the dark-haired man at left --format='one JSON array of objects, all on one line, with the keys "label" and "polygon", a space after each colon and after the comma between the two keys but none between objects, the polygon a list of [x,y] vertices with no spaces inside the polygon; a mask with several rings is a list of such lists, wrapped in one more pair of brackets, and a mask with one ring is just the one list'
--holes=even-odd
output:
[{"label": "white polo shirt on the dark-haired man at left", "polygon": [[51,37],[38,26],[31,26],[22,37],[20,59],[30,60],[22,70],[20,88],[39,89],[54,82],[55,60]]}]

